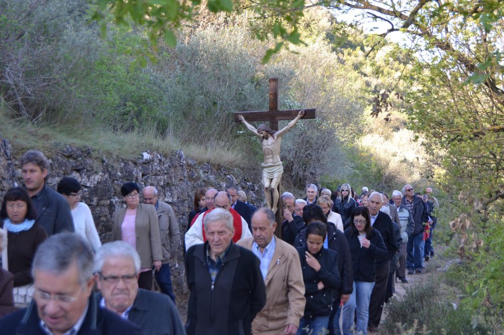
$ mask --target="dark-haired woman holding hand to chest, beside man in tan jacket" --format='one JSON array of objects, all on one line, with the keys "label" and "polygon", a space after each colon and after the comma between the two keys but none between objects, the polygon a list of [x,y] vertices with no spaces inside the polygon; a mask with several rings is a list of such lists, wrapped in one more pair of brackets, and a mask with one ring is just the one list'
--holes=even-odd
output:
[{"label": "dark-haired woman holding hand to chest, beside man in tan jacket", "polygon": [[341,286],[338,253],[324,248],[326,224],[312,222],[306,228],[306,245],[297,248],[306,298],[297,335],[325,334],[329,328],[333,290]]}]

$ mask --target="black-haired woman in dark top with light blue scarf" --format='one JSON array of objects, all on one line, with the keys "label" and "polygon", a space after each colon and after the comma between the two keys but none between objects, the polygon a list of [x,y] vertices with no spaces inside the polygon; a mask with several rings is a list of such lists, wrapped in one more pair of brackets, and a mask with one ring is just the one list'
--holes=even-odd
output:
[{"label": "black-haired woman in dark top with light blue scarf", "polygon": [[26,189],[13,187],[7,191],[0,220],[2,228],[8,231],[7,261],[9,272],[14,275],[14,287],[33,283],[33,257],[37,247],[47,238],[47,232],[36,219],[37,213]]}]

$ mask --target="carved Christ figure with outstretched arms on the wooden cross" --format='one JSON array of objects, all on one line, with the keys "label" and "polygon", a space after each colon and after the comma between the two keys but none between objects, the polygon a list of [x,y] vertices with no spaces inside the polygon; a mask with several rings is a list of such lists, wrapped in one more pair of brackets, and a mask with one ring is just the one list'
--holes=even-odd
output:
[{"label": "carved Christ figure with outstretched arms on the wooden cross", "polygon": [[[263,166],[263,185],[266,194],[266,204],[272,209],[273,213],[277,211],[278,204],[278,185],[283,174],[283,165],[280,160],[280,145],[282,144],[282,136],[292,127],[297,121],[304,116],[304,110],[299,111],[294,120],[289,122],[284,128],[273,131],[266,124],[261,124],[257,129],[245,121],[242,115],[238,115],[238,120],[241,121],[248,130],[253,132],[261,140],[261,145],[264,152]],[[273,191],[273,199],[271,195]]]}]

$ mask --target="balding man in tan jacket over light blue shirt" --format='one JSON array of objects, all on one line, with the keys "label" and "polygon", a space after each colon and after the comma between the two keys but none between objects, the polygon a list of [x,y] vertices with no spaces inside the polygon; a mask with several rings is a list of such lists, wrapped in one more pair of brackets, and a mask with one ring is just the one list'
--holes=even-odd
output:
[{"label": "balding man in tan jacket over light blue shirt", "polygon": [[273,234],[277,223],[269,208],[252,216],[253,237],[238,245],[252,250],[261,261],[266,305],[252,322],[254,334],[295,334],[304,313],[304,282],[296,249]]}]

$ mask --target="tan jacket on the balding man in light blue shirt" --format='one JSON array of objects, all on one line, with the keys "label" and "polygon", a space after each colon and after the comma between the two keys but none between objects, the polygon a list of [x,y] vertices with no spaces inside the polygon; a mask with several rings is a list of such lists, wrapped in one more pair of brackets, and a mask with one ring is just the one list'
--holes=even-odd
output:
[{"label": "tan jacket on the balding man in light blue shirt", "polygon": [[[249,237],[236,244],[251,250],[253,242],[254,238]],[[252,332],[277,335],[283,334],[289,323],[299,326],[306,303],[301,262],[297,250],[279,238],[264,283],[266,305],[252,322]]]}]

